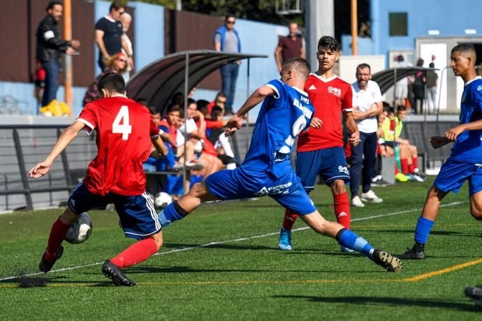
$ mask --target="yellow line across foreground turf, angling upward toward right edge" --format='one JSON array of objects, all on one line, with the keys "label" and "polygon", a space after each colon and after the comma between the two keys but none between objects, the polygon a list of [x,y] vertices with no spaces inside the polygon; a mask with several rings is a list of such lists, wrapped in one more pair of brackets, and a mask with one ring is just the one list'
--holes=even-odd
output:
[{"label": "yellow line across foreground turf, angling upward toward right edge", "polygon": [[[481,264],[482,259],[465,262],[462,264],[453,265],[438,271],[432,271],[411,278],[400,279],[340,279],[340,280],[293,280],[293,281],[193,281],[193,282],[139,282],[138,285],[277,285],[277,284],[321,284],[321,283],[400,283],[400,282],[418,282],[425,280],[425,278],[432,278],[441,274],[447,274],[466,267],[472,267],[476,264]],[[59,287],[87,287],[94,283],[45,283],[45,288],[59,288]],[[0,284],[0,289],[19,288],[18,283]]]}]

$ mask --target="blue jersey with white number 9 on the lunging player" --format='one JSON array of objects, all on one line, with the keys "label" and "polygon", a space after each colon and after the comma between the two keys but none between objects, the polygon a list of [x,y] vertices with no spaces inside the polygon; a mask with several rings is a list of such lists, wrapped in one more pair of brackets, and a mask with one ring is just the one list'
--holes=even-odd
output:
[{"label": "blue jersey with white number 9 on the lunging player", "polygon": [[308,128],[314,107],[305,91],[281,80],[271,80],[266,86],[275,95],[265,98],[261,105],[242,167],[266,171],[278,178],[291,170],[295,137]]}]

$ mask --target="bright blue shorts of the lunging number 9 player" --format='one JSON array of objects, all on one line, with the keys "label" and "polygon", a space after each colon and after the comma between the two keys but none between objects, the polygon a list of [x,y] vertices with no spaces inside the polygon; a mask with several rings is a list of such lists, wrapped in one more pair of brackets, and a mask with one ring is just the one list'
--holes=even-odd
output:
[{"label": "bright blue shorts of the lunging number 9 player", "polygon": [[293,170],[287,171],[279,179],[273,179],[263,171],[238,167],[211,174],[206,179],[206,185],[219,200],[268,195],[293,213],[306,215],[316,211],[312,199]]}]

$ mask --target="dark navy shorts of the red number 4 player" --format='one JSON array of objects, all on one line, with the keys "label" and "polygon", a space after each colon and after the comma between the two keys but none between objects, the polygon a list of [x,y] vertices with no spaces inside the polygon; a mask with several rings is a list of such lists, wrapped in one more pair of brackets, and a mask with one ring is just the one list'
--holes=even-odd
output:
[{"label": "dark navy shorts of the red number 4 player", "polygon": [[105,196],[96,195],[89,192],[81,181],[78,186],[75,186],[71,196],[68,197],[68,207],[75,214],[81,214],[90,209],[103,209],[110,203],[115,205],[126,237],[145,239],[145,237],[156,234],[161,230],[154,204],[145,192],[136,196],[114,193]]}]

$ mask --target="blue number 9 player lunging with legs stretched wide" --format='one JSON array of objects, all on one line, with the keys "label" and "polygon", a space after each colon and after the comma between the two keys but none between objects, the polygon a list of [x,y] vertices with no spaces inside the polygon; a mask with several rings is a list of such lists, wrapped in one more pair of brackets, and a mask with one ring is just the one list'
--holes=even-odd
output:
[{"label": "blue number 9 player lunging with legs stretched wide", "polygon": [[289,59],[283,64],[281,80],[272,80],[249,96],[228,121],[226,130],[228,135],[238,130],[247,112],[263,102],[244,163],[235,170],[216,172],[195,184],[187,195],[161,211],[159,222],[163,226],[170,225],[209,200],[269,195],[286,209],[300,214],[319,234],[337,239],[340,245],[363,253],[388,271],[401,271],[399,259],[376,250],[343,225],[326,221],[291,167],[290,154],[295,137],[310,125],[321,126],[321,120],[313,117],[314,108],[307,93],[302,91],[309,70],[305,59]]}]

